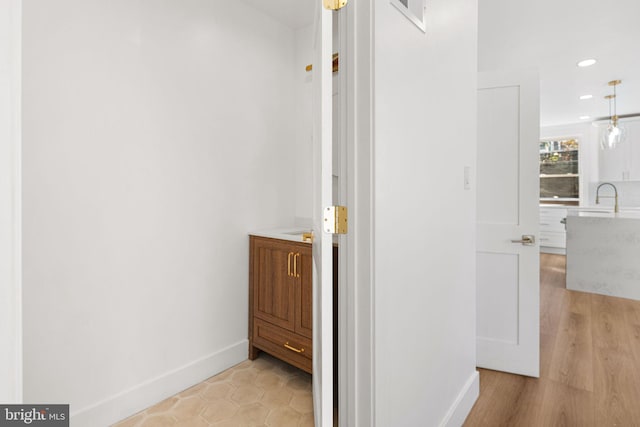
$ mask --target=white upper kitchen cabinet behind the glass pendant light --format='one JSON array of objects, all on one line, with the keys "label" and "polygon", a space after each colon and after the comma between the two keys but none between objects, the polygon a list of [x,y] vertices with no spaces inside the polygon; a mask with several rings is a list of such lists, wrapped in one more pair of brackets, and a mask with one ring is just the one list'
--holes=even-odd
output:
[{"label": "white upper kitchen cabinet behind the glass pendant light", "polygon": [[[599,181],[640,181],[640,120],[621,120],[626,139],[614,150],[599,150]],[[600,127],[598,138],[604,126]],[[599,141],[598,141],[599,143]]]}]

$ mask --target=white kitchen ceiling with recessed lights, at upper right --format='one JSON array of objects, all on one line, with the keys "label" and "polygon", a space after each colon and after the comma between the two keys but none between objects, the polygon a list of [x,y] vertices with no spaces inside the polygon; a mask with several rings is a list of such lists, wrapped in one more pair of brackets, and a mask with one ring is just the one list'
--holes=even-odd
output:
[{"label": "white kitchen ceiling with recessed lights, at upper right", "polygon": [[[640,113],[639,0],[479,0],[479,69],[538,67],[542,126]],[[576,63],[598,63],[578,68]],[[593,95],[580,100],[581,95]]]}]

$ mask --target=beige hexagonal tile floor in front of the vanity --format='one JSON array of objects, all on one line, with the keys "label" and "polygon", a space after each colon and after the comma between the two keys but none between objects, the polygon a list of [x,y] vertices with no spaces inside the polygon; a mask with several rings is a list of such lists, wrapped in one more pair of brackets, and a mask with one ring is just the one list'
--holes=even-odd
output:
[{"label": "beige hexagonal tile floor in front of the vanity", "polygon": [[261,353],[113,427],[313,427],[311,375]]}]

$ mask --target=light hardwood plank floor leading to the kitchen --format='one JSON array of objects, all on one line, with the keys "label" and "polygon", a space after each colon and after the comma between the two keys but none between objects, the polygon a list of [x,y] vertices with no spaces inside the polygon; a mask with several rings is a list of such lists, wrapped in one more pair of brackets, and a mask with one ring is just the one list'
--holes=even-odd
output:
[{"label": "light hardwood plank floor leading to the kitchen", "polygon": [[640,426],[640,301],[567,290],[561,255],[540,282],[540,378],[480,369],[464,425]]}]

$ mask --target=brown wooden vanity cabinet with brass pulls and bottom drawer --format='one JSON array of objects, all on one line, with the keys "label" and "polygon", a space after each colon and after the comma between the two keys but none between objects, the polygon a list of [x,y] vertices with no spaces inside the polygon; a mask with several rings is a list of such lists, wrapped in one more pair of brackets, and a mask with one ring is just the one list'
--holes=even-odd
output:
[{"label": "brown wooden vanity cabinet with brass pulls and bottom drawer", "polygon": [[265,351],[311,373],[311,244],[250,236],[249,359]]}]

